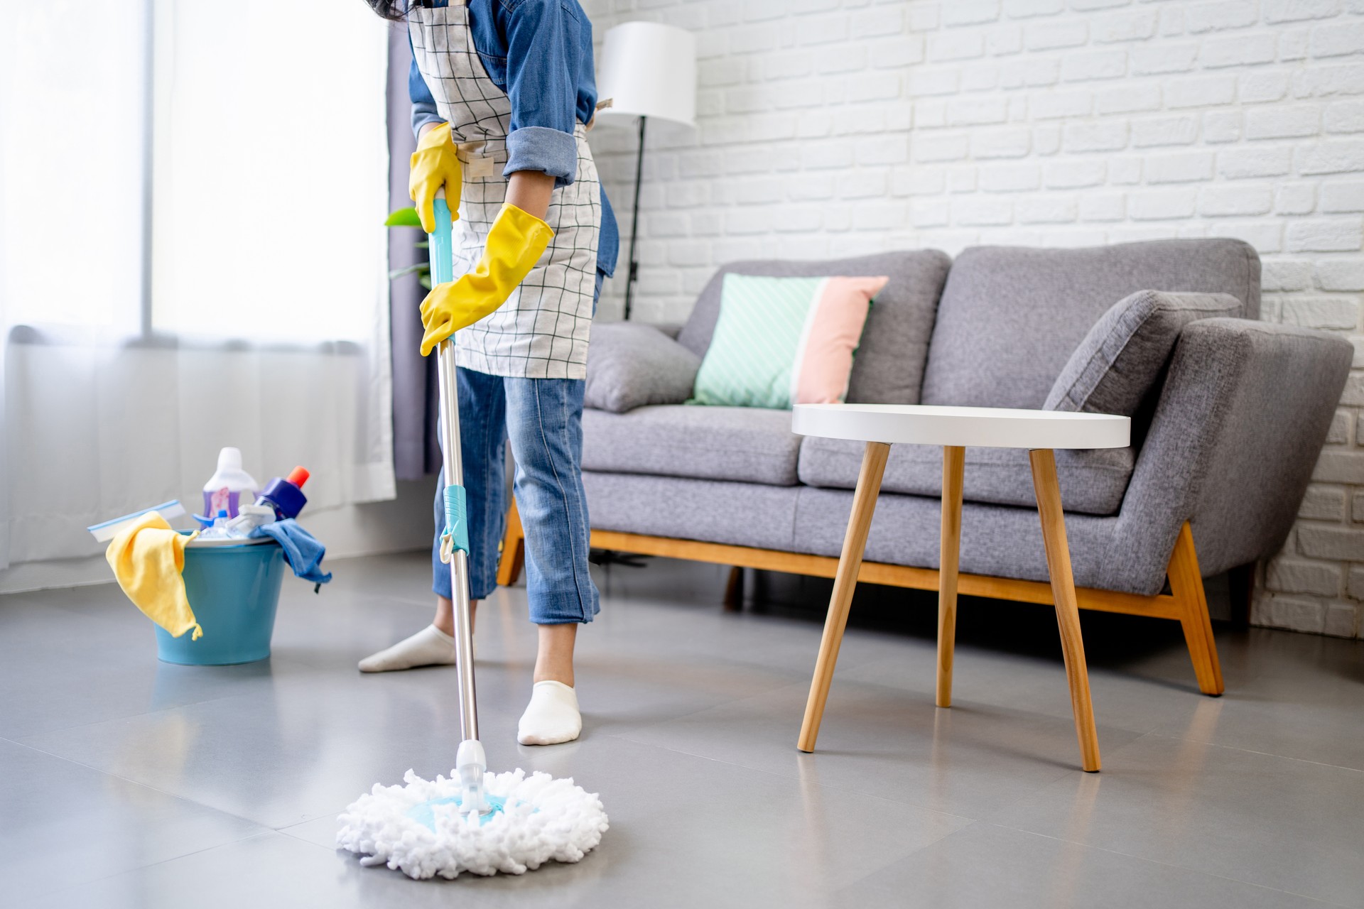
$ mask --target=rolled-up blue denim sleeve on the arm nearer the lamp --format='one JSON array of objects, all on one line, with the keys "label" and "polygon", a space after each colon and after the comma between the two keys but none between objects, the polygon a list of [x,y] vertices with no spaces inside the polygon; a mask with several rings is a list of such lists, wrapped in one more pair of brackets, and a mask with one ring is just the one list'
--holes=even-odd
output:
[{"label": "rolled-up blue denim sleeve on the arm nearer the lamp", "polygon": [[578,168],[573,128],[582,23],[559,0],[503,0],[503,8],[512,124],[502,173],[540,170],[566,187]]}]

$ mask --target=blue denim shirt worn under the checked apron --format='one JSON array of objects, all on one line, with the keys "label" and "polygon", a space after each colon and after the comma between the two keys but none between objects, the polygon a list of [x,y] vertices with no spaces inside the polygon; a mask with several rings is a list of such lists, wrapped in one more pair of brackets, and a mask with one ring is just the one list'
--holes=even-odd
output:
[{"label": "blue denim shirt worn under the checked apron", "polygon": [[[428,3],[449,5],[449,0]],[[503,176],[539,170],[552,176],[555,187],[569,185],[578,166],[573,128],[592,119],[597,99],[592,22],[582,7],[577,0],[469,0],[469,30],[488,79],[512,102]],[[443,123],[415,60],[408,94],[413,132]],[[603,187],[597,271],[615,271],[619,248],[615,213]]]}]

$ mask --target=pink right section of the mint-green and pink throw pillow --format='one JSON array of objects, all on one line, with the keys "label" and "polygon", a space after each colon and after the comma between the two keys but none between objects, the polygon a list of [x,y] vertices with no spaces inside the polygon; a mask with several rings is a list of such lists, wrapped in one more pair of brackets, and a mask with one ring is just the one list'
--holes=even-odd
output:
[{"label": "pink right section of the mint-green and pink throw pillow", "polygon": [[877,278],[825,278],[805,320],[805,334],[795,352],[794,403],[842,403],[853,373],[853,352],[862,341],[862,327],[872,297],[889,281]]}]

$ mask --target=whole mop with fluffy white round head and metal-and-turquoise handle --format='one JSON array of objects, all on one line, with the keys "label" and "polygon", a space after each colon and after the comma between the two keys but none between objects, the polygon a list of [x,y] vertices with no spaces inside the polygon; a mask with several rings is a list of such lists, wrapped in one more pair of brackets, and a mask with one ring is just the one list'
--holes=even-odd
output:
[{"label": "whole mop with fluffy white round head and metal-and-turquoise handle", "polygon": [[[442,283],[454,279],[450,209],[443,192],[435,200],[435,222],[431,281]],[[454,596],[462,741],[449,778],[427,781],[408,770],[405,785],[374,784],[338,818],[337,831],[337,846],[361,856],[360,864],[386,864],[415,879],[453,879],[464,871],[518,875],[551,860],[578,861],[607,830],[602,800],[573,780],[555,780],[547,773],[527,775],[524,770],[487,773],[473,688],[469,534],[454,367],[451,337],[441,342],[438,364],[446,478],[441,556],[450,563]]]}]

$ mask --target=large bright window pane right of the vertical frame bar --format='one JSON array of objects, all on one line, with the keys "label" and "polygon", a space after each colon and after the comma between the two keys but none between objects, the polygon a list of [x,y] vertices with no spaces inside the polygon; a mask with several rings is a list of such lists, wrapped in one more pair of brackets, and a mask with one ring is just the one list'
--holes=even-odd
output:
[{"label": "large bright window pane right of the vertical frame bar", "polygon": [[370,337],[386,29],[363,3],[155,5],[153,330]]}]

